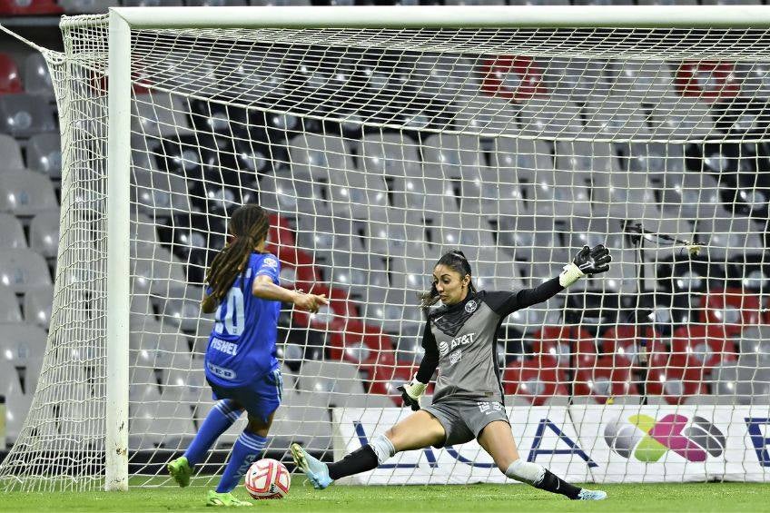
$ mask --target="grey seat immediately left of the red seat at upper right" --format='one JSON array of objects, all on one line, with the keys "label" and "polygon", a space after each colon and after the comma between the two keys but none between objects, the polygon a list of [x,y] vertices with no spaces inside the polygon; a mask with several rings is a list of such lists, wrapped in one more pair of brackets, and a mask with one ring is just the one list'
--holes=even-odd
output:
[{"label": "grey seat immediately left of the red seat at upper right", "polygon": [[613,95],[653,103],[659,98],[676,94],[674,76],[662,61],[623,61],[614,67],[616,76],[612,84]]}]

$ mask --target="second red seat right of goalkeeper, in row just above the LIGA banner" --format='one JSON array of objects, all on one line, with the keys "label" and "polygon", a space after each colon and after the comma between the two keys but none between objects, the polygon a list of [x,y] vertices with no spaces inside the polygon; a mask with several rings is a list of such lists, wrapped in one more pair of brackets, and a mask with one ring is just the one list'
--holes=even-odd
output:
[{"label": "second red seat right of goalkeeper, in row just above the LIGA banner", "polygon": [[[625,361],[618,365],[618,360]],[[638,395],[637,384],[631,377],[630,361],[607,355],[599,358],[592,368],[579,369],[575,373],[574,394],[592,396],[602,403],[611,396]]]}]

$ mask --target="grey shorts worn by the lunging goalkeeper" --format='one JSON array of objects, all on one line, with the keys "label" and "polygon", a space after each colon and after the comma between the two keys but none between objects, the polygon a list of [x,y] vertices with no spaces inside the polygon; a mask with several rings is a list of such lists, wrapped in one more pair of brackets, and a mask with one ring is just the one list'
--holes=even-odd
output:
[{"label": "grey shorts worn by the lunging goalkeeper", "polygon": [[443,443],[433,446],[437,449],[479,438],[481,429],[486,428],[489,422],[503,420],[510,424],[505,408],[497,401],[450,396],[441,398],[423,410],[438,419],[447,433]]}]

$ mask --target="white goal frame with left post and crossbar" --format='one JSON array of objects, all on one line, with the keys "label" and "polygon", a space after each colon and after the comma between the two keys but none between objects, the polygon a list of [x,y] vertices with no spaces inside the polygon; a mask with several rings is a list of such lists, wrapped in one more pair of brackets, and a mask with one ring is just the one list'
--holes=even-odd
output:
[{"label": "white goal frame with left post and crossbar", "polygon": [[[64,18],[62,25],[82,23]],[[128,489],[131,30],[439,27],[767,28],[770,5],[111,7],[105,490]]]}]

